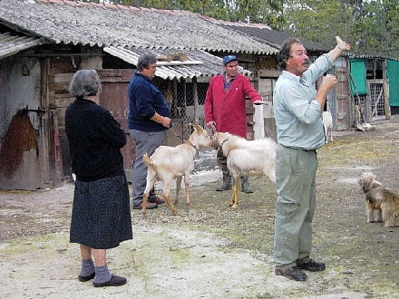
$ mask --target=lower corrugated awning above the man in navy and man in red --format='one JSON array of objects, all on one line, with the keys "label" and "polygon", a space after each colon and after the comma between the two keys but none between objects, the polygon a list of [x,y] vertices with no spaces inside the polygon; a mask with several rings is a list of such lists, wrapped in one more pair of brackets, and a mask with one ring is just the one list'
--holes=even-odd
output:
[{"label": "lower corrugated awning above the man in navy and man in red", "polygon": [[[174,50],[168,49],[147,49],[147,48],[131,48],[126,49],[122,46],[109,46],[103,48],[104,52],[118,57],[127,63],[137,65],[139,57],[145,53],[153,53],[156,56],[165,56],[170,53],[184,53],[188,59],[184,62],[171,61],[169,63],[158,63],[156,76],[162,79],[173,78],[193,78],[193,77],[210,77],[222,72],[222,59],[201,50]],[[248,70],[240,68],[239,72],[249,74]]]}]

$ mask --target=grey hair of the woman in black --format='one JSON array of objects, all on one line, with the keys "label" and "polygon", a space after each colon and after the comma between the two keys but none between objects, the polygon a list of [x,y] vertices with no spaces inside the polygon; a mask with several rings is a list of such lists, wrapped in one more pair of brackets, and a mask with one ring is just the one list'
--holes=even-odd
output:
[{"label": "grey hair of the woman in black", "polygon": [[100,77],[95,70],[80,70],[73,74],[68,92],[76,98],[96,95],[102,91]]}]

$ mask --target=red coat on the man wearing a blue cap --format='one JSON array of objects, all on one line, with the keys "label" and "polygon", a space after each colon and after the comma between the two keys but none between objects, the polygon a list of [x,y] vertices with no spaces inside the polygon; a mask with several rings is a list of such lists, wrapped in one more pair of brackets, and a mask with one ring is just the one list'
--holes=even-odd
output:
[{"label": "red coat on the man wearing a blue cap", "polygon": [[247,139],[246,96],[250,102],[262,100],[243,74],[238,73],[228,92],[224,90],[223,74],[213,77],[205,98],[205,122],[215,121],[217,131]]}]

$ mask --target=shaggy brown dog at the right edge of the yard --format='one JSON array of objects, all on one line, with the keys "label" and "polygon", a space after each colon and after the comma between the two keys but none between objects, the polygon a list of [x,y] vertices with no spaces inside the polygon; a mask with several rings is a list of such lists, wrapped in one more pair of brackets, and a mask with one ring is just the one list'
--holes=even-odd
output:
[{"label": "shaggy brown dog at the right edge of the yard", "polygon": [[394,227],[399,216],[399,192],[384,188],[371,172],[365,172],[359,179],[359,184],[365,193],[367,222],[384,221],[384,227]]}]

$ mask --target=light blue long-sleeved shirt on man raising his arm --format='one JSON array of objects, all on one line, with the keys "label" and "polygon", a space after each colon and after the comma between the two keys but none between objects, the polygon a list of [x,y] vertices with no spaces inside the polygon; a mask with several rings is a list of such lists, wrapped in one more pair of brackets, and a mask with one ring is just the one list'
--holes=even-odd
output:
[{"label": "light blue long-sleeved shirt on man raising his arm", "polygon": [[301,77],[282,72],[273,94],[279,144],[299,149],[319,149],[325,144],[323,107],[316,101],[314,83],[332,66],[331,58],[323,54]]}]

